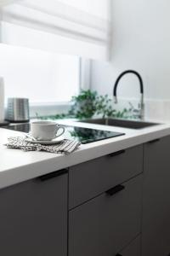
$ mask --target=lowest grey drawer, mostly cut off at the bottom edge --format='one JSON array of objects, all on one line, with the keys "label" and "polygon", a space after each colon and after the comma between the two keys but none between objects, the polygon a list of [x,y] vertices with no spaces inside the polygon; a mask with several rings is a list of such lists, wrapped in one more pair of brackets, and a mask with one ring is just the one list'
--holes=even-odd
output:
[{"label": "lowest grey drawer, mostly cut off at the bottom edge", "polygon": [[138,236],[121,253],[116,256],[140,256],[141,255],[141,237]]}]

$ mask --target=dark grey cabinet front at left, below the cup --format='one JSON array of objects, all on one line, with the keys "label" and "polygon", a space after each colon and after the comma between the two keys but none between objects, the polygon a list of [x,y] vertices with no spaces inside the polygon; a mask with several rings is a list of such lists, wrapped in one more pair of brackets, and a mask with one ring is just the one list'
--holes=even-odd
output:
[{"label": "dark grey cabinet front at left, below the cup", "polygon": [[0,190],[0,255],[66,256],[67,174]]}]

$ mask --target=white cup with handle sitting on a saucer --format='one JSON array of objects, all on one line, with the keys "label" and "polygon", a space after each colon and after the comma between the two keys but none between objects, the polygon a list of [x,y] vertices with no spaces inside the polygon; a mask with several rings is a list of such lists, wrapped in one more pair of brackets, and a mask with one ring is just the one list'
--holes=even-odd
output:
[{"label": "white cup with handle sitting on a saucer", "polygon": [[[59,135],[59,130],[62,130]],[[31,123],[31,136],[38,141],[51,141],[65,133],[65,127],[52,121],[35,121]]]}]

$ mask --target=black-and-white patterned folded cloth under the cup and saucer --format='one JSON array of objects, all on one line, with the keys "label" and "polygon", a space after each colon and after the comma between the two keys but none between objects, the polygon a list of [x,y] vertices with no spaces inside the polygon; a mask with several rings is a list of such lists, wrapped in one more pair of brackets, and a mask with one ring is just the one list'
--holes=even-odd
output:
[{"label": "black-and-white patterned folded cloth under the cup and saucer", "polygon": [[18,148],[23,151],[47,151],[55,154],[71,154],[81,145],[75,140],[65,139],[57,144],[42,145],[39,143],[28,143],[26,137],[9,137],[7,148]]}]

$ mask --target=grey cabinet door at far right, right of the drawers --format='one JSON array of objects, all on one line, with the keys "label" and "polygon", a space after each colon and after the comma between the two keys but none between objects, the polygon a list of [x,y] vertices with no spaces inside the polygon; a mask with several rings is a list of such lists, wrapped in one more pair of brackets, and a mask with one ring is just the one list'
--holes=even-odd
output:
[{"label": "grey cabinet door at far right, right of the drawers", "polygon": [[170,137],[144,145],[143,256],[170,253]]}]

